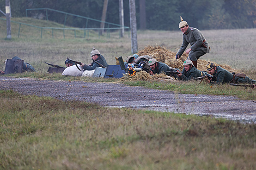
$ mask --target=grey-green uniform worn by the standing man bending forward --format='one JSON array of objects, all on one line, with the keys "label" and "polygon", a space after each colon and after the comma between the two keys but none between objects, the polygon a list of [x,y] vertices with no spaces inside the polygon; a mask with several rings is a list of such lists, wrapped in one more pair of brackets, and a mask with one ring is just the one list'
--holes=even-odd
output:
[{"label": "grey-green uniform worn by the standing man bending forward", "polygon": [[200,30],[188,27],[187,32],[183,34],[183,42],[177,55],[181,56],[189,43],[192,50],[188,54],[188,58],[191,61],[197,61],[200,56],[210,52],[208,42]]}]

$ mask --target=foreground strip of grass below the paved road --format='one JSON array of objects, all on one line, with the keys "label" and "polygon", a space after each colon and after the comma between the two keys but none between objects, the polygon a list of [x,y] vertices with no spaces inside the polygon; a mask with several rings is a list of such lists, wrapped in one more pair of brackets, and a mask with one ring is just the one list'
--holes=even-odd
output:
[{"label": "foreground strip of grass below the paved road", "polygon": [[0,169],[256,168],[255,124],[0,94]]}]

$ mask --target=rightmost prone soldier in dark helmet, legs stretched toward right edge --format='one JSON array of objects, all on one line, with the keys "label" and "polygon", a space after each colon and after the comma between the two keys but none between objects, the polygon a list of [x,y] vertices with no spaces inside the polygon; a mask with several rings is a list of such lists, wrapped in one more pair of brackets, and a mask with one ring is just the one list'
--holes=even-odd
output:
[{"label": "rightmost prone soldier in dark helmet, legs stretched toward right edge", "polygon": [[224,68],[217,66],[214,63],[209,63],[207,66],[207,71],[214,76],[214,81],[205,79],[207,83],[210,84],[223,84],[223,83],[248,83],[248,84],[256,84],[256,80],[250,79],[247,76],[238,77],[237,74],[230,73]]}]

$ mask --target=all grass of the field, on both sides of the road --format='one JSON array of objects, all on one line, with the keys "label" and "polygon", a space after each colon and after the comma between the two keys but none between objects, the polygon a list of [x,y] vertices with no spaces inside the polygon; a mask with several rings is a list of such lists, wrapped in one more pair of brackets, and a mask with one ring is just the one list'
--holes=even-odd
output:
[{"label": "all grass of the field, on both sides of the road", "polygon": [[[68,35],[63,39],[61,34],[52,39],[50,32],[41,39],[36,30],[24,29],[17,38],[18,28],[13,26],[13,39],[5,40],[3,21],[0,30],[0,61],[19,56],[37,71],[15,75],[20,77],[117,81],[47,75],[44,62],[64,66],[69,57],[89,63],[93,46],[108,64],[115,64],[115,56],[131,54],[128,33],[124,38],[111,33],[110,38],[99,39],[97,33],[92,33],[86,39]],[[211,46],[211,53],[202,59],[231,65],[256,79],[256,29],[202,32]],[[138,50],[162,45],[176,52],[181,38],[179,30],[138,31]],[[0,70],[4,70],[3,62]],[[228,85],[210,87],[190,82],[176,83],[169,89],[170,84],[159,82],[127,84],[246,99],[256,96],[255,90]],[[102,108],[13,91],[0,91],[0,100],[0,169],[256,169],[256,124],[182,113]]]}]

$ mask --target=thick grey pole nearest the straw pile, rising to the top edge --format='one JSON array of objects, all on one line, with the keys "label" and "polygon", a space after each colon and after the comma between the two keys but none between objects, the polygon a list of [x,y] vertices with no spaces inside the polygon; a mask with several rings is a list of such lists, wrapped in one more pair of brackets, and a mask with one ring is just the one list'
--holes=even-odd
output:
[{"label": "thick grey pole nearest the straw pile, rising to the top edge", "polygon": [[138,51],[135,0],[130,0],[130,27],[132,54],[135,54]]}]

